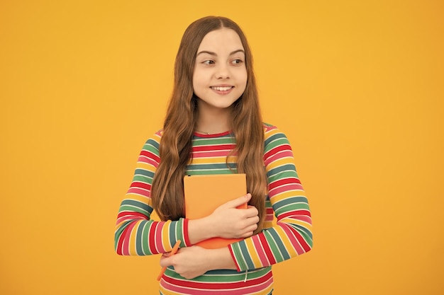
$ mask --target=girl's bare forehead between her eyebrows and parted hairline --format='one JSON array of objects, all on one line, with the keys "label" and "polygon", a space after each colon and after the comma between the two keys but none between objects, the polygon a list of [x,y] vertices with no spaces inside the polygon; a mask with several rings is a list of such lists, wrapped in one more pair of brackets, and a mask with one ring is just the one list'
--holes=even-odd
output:
[{"label": "girl's bare forehead between her eyebrows and parted hairline", "polygon": [[229,28],[220,28],[212,30],[202,39],[197,52],[201,50],[209,50],[216,52],[217,50],[243,50],[242,41],[235,30]]}]

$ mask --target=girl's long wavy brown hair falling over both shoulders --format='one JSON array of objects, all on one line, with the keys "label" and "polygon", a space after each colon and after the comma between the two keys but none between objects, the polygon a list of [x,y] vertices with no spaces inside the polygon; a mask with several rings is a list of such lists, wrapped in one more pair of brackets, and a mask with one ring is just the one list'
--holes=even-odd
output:
[{"label": "girl's long wavy brown hair falling over both shoulders", "polygon": [[197,98],[192,85],[194,63],[202,39],[209,32],[220,28],[234,30],[245,50],[248,81],[243,95],[233,103],[231,129],[236,147],[232,154],[238,156],[238,173],[247,175],[247,188],[252,195],[249,204],[259,211],[257,233],[262,230],[267,193],[263,162],[264,130],[251,50],[243,31],[228,18],[200,18],[189,25],[182,37],[174,64],[174,88],[159,146],[160,164],[152,180],[152,206],[164,221],[184,217],[183,177],[191,157],[192,136],[197,119]]}]

